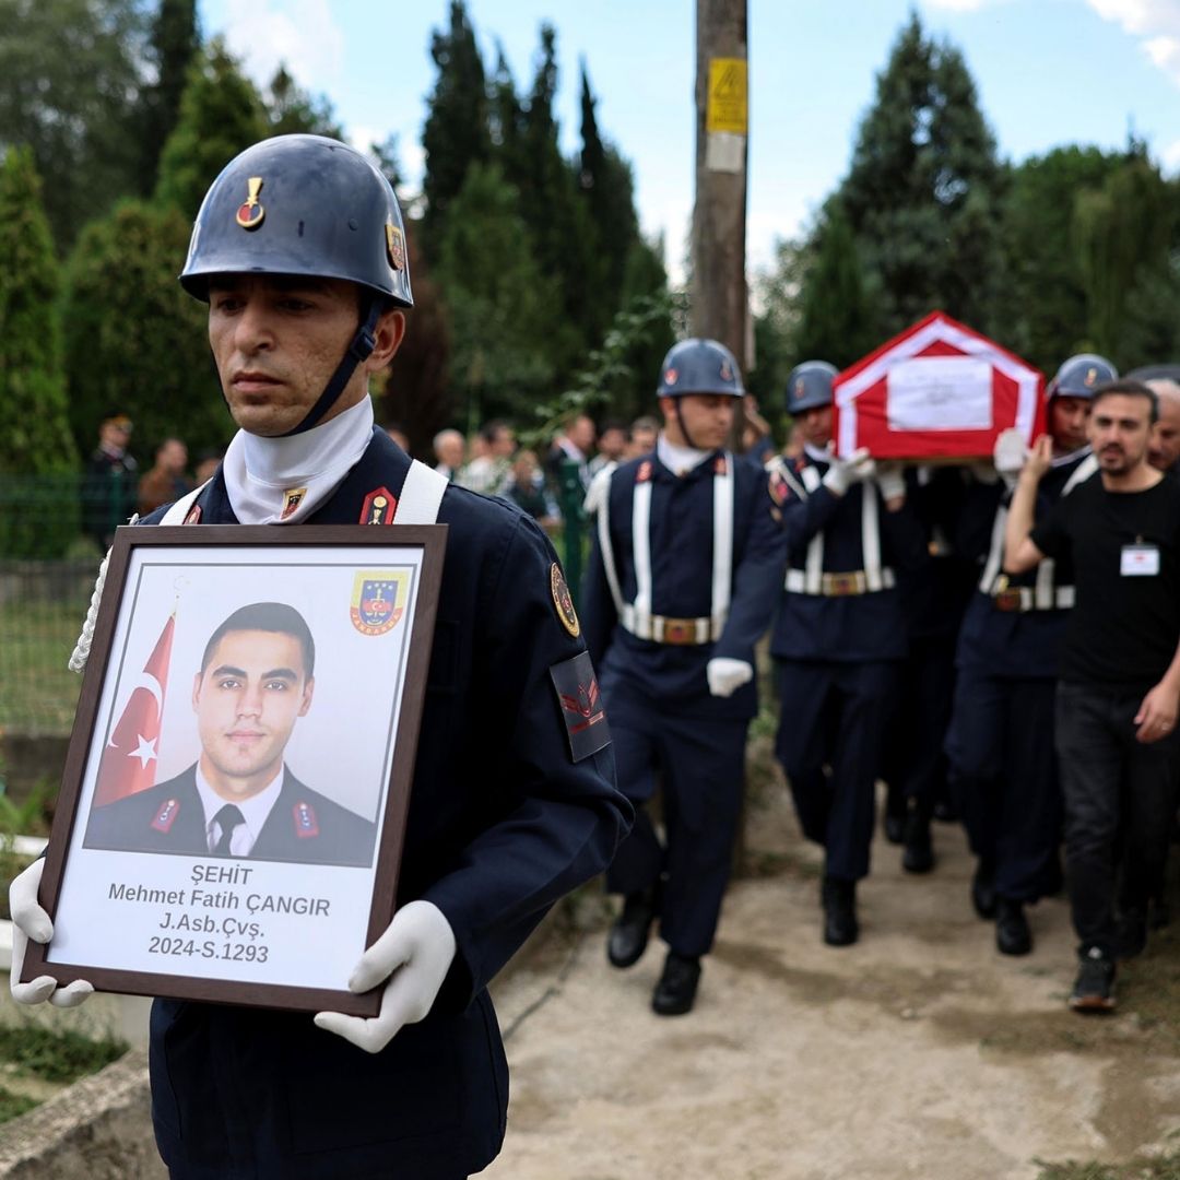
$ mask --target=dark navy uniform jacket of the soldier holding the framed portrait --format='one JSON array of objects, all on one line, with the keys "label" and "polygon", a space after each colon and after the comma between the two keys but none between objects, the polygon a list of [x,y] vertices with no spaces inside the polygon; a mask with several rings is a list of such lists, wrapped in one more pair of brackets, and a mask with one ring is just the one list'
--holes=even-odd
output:
[{"label": "dark navy uniform jacket of the soldier holding the framed portrait", "polygon": [[[359,523],[374,490],[400,494],[408,466],[375,430],[308,523]],[[197,503],[201,524],[236,523],[219,472]],[[438,519],[450,533],[398,899],[442,911],[454,963],[430,1016],[374,1055],[308,1014],[157,999],[152,1116],[173,1180],[454,1180],[499,1150],[507,1068],[487,982],[605,867],[631,811],[610,746],[594,749],[605,725],[592,752],[571,753],[585,719],[565,720],[551,669],[566,683],[589,657],[562,622],[544,533],[454,485]]]}]

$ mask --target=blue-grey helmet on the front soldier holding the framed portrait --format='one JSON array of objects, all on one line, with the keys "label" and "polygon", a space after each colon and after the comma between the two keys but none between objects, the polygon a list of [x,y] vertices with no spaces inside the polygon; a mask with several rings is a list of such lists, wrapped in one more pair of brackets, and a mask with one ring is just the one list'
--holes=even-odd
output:
[{"label": "blue-grey helmet on the front soldier holding the framed portrait", "polygon": [[208,300],[218,274],[343,278],[413,307],[406,228],[389,182],[324,136],[275,136],[225,165],[201,204],[184,289]]}]

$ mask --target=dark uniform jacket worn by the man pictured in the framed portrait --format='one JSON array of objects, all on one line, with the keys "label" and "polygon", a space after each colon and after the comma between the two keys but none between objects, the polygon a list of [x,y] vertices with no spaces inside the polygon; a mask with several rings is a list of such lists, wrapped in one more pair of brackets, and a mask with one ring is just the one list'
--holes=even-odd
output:
[{"label": "dark uniform jacket worn by the man pictured in the framed portrait", "polygon": [[[175,779],[96,807],[87,848],[209,856],[196,763]],[[303,786],[287,769],[250,857],[313,865],[371,865],[376,825]]]}]

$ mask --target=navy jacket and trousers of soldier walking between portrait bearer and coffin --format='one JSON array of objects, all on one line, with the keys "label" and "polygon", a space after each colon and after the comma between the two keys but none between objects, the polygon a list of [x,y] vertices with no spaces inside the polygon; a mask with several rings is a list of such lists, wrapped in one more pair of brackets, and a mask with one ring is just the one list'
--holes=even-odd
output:
[{"label": "navy jacket and trousers of soldier walking between portrait bearer and coffin", "polygon": [[[637,480],[649,479],[653,611],[671,618],[709,616],[719,459],[720,453],[678,478],[648,455],[612,474],[611,550],[627,601],[634,602],[636,595],[632,497]],[[729,461],[734,465],[732,598],[715,642],[673,645],[627,631],[597,536],[584,586],[586,643],[602,669],[618,785],[636,808],[635,826],[608,871],[607,889],[636,893],[661,883],[660,933],[686,957],[704,955],[713,945],[741,812],[746,733],[758,712],[753,683],[730,697],[713,697],[704,669],[714,656],[754,664],[754,643],[769,623],[782,570],[766,473],[745,459]],[[647,809],[657,786],[663,840]]]}]

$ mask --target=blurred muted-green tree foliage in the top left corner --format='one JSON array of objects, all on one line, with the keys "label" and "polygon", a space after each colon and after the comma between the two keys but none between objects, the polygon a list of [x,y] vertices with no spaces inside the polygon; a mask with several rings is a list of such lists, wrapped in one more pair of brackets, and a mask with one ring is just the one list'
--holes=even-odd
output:
[{"label": "blurred muted-green tree foliage in the top left corner", "polygon": [[137,0],[0,0],[0,145],[33,149],[58,253],[143,190]]}]

